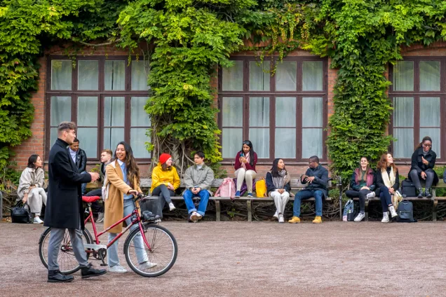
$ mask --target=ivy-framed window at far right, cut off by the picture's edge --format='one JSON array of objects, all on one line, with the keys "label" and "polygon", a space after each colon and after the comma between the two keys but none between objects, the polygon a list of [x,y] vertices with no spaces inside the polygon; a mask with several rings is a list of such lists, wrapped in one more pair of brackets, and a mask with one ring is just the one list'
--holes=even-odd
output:
[{"label": "ivy-framed window at far right, cut off by the picture's edge", "polygon": [[437,158],[445,159],[445,66],[443,57],[406,57],[391,66],[395,158],[411,158],[414,147],[429,136]]}]

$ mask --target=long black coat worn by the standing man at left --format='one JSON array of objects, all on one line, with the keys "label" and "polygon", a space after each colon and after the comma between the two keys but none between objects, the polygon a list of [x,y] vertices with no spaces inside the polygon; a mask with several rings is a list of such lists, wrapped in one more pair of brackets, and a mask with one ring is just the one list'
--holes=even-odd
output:
[{"label": "long black coat worn by the standing man at left", "polygon": [[90,174],[80,174],[67,151],[67,142],[55,141],[48,159],[48,198],[44,226],[81,229],[83,205],[81,184],[91,181]]}]

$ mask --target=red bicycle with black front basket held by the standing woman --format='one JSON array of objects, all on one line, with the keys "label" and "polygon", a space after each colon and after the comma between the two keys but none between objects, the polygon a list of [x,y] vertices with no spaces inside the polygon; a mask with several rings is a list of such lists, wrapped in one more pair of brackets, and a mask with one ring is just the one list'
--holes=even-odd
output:
[{"label": "red bicycle with black front basket held by the standing woman", "polygon": [[[83,202],[88,204],[88,217],[85,223],[91,221],[93,225],[93,232],[95,233],[95,240],[90,235],[90,232],[85,229],[82,230],[83,245],[86,249],[87,258],[92,256],[96,260],[102,261],[101,266],[107,266],[105,258],[107,257],[107,249],[116,242],[124,233],[126,233],[131,226],[138,225],[139,228],[135,228],[126,238],[124,243],[124,254],[126,255],[126,261],[128,266],[135,271],[138,275],[143,277],[158,277],[168,272],[172,268],[177,259],[178,247],[175,237],[172,233],[164,227],[158,226],[158,216],[154,216],[148,210],[142,212],[140,216],[140,207],[137,206],[133,209],[133,212],[123,219],[117,221],[109,228],[97,233],[95,220],[93,219],[93,212],[91,211],[91,203],[100,200],[99,196],[82,197]],[[142,194],[137,195],[135,201],[150,200],[154,198],[144,197]],[[114,228],[119,223],[131,218],[132,223],[119,233],[116,238],[108,244],[101,244],[99,237],[106,233],[111,228]],[[79,230],[81,232],[81,230]],[[39,240],[39,255],[43,265],[48,268],[48,244],[50,241],[51,228],[47,228],[41,235]],[[143,244],[141,244],[141,239]],[[137,254],[141,257],[144,256],[147,263],[151,265],[142,265],[138,259]],[[65,232],[64,240],[60,245],[60,251],[58,256],[58,263],[60,266],[60,272],[64,274],[71,274],[79,270],[81,267],[76,261],[74,251],[72,249],[71,240],[68,231]]]}]

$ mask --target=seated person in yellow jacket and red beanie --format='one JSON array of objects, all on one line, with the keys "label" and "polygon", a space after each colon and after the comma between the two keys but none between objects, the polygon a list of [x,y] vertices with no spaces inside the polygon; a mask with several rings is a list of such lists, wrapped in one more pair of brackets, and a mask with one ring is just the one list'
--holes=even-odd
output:
[{"label": "seated person in yellow jacket and red beanie", "polygon": [[164,208],[165,202],[168,202],[170,211],[175,209],[170,196],[175,195],[175,190],[180,187],[180,177],[178,177],[177,169],[172,166],[172,156],[168,153],[162,153],[159,156],[159,163],[151,172],[151,188],[152,196],[159,196],[161,209]]}]

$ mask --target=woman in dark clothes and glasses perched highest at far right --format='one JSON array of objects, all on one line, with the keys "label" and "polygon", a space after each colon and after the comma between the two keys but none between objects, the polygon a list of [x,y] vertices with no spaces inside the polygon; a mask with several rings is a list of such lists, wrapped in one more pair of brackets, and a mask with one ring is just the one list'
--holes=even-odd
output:
[{"label": "woman in dark clothes and glasses perched highest at far right", "polygon": [[[438,175],[433,171],[437,154],[432,151],[431,137],[424,137],[423,141],[412,153],[412,166],[410,167],[409,179],[413,181],[418,191],[418,198],[431,198],[431,186],[438,183]],[[426,181],[426,191],[423,193],[420,179]]]}]

